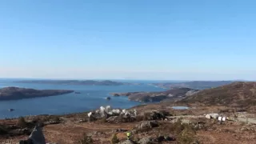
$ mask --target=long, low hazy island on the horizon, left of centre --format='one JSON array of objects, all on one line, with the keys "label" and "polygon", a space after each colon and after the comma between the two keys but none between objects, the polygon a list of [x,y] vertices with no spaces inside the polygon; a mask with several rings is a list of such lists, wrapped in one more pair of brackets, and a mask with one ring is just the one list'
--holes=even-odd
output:
[{"label": "long, low hazy island on the horizon, left of centre", "polygon": [[40,84],[59,84],[59,85],[87,85],[87,86],[122,86],[132,85],[132,83],[126,82],[114,82],[114,81],[94,81],[94,80],[23,80],[18,83],[40,83]]}]

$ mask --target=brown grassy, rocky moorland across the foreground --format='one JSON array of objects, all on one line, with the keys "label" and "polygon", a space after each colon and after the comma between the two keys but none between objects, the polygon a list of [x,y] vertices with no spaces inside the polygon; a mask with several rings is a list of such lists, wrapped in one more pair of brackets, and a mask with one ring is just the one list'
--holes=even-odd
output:
[{"label": "brown grassy, rocky moorland across the foreground", "polygon": [[[159,106],[159,104],[154,105]],[[145,110],[147,111],[138,110],[138,116],[134,122],[107,122],[104,118],[93,122],[81,122],[80,119],[87,119],[87,114],[82,113],[62,116],[30,116],[25,118],[25,123],[31,124],[37,121],[48,123],[52,120],[58,120],[58,123],[45,124],[43,134],[46,142],[61,144],[80,144],[82,143],[79,142],[81,139],[89,138],[93,140],[90,143],[109,144],[114,134],[117,134],[120,142],[126,142],[126,131],[130,131],[132,133],[131,139],[138,143],[254,144],[256,141],[256,125],[234,121],[220,124],[214,119],[205,118],[203,115],[190,115],[202,112],[202,110],[216,111],[217,109],[214,107],[173,110],[165,106],[164,110],[160,107],[156,110],[149,110],[147,107]],[[166,116],[163,115],[166,117],[165,120],[159,118],[158,114],[167,114]],[[25,133],[27,129],[21,129],[17,125],[17,121],[17,119],[0,120],[0,130],[2,130],[0,143],[17,143],[29,137],[29,134]]]}]

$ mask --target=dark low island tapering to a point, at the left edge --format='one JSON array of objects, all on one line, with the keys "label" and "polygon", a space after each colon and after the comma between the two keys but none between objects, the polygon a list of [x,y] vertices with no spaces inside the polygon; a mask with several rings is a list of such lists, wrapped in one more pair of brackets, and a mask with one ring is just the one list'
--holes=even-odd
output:
[{"label": "dark low island tapering to a point, at the left edge", "polygon": [[19,87],[5,87],[0,89],[0,101],[49,97],[73,92],[74,90],[34,90]]}]

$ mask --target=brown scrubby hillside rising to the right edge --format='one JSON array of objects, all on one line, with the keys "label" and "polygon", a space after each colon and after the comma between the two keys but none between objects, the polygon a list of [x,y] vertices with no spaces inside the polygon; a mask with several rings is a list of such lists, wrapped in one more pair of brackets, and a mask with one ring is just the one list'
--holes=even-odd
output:
[{"label": "brown scrubby hillside rising to the right edge", "polygon": [[226,86],[201,90],[181,102],[200,102],[216,106],[256,106],[256,82],[234,82]]}]

